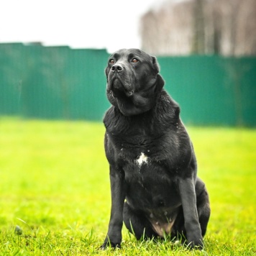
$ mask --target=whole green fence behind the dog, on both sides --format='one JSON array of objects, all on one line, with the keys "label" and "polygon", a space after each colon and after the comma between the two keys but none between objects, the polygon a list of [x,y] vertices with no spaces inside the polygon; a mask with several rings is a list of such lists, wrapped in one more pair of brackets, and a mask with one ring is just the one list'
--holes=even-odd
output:
[{"label": "whole green fence behind the dog, on both sides", "polygon": [[[0,115],[100,121],[106,50],[0,44]],[[186,124],[256,127],[256,58],[160,57]]]}]

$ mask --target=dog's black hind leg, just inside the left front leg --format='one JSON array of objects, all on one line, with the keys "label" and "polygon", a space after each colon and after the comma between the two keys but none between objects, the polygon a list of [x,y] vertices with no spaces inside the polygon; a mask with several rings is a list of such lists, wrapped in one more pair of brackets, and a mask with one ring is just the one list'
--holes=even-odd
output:
[{"label": "dog's black hind leg, just inside the left front leg", "polygon": [[157,233],[152,229],[150,221],[147,220],[144,214],[135,213],[131,207],[124,203],[124,224],[134,236],[139,240],[141,238],[157,237]]}]

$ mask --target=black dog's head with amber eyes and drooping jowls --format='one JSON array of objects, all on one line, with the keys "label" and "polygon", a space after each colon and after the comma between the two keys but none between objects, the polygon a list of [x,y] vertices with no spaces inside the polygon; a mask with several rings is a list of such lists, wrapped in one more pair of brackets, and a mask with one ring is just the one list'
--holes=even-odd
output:
[{"label": "black dog's head with amber eyes and drooping jowls", "polygon": [[139,49],[122,49],[109,57],[106,95],[124,116],[152,109],[164,86],[155,57]]}]

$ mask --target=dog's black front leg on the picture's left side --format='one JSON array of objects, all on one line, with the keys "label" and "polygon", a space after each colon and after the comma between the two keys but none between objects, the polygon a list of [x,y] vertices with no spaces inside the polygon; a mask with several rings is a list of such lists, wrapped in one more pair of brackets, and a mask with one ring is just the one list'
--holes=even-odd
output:
[{"label": "dog's black front leg on the picture's left side", "polygon": [[123,209],[126,195],[126,186],[124,183],[124,172],[117,168],[110,167],[111,183],[111,216],[109,220],[109,230],[101,245],[101,249],[106,247],[121,247],[122,226],[123,226]]}]

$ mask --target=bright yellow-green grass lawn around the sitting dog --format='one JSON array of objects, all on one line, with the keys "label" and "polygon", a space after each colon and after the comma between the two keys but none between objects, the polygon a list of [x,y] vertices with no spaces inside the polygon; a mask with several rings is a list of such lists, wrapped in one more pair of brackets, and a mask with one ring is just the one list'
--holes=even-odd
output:
[{"label": "bright yellow-green grass lawn around the sitting dog", "polygon": [[137,242],[123,228],[122,249],[102,252],[110,212],[104,125],[1,118],[0,255],[255,255],[256,130],[188,132],[211,200],[205,250]]}]

